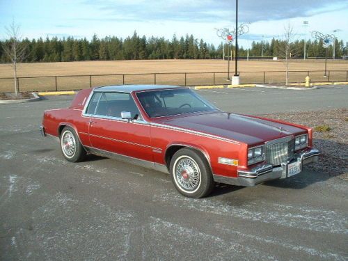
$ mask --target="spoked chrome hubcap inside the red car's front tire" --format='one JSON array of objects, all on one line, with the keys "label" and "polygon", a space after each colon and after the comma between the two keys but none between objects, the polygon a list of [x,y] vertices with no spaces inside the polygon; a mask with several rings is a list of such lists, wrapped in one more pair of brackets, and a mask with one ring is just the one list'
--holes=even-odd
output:
[{"label": "spoked chrome hubcap inside the red car's front tire", "polygon": [[200,183],[200,169],[195,161],[184,157],[177,161],[175,179],[184,190],[193,191]]}]

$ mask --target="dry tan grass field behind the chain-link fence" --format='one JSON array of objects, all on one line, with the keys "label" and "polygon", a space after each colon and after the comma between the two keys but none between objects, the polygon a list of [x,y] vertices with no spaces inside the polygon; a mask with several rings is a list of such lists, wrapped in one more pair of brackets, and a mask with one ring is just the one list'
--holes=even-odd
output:
[{"label": "dry tan grass field behind the chain-link fence", "polygon": [[[23,63],[18,67],[18,77],[41,77],[45,78],[19,79],[20,90],[54,90],[56,82],[58,90],[72,90],[89,88],[92,86],[103,86],[112,84],[157,84],[184,85],[186,84],[209,85],[229,84],[227,81],[227,61],[222,60],[145,60],[145,61],[84,61],[70,63]],[[285,81],[283,61],[239,61],[238,70],[241,72],[242,83],[278,83]],[[230,75],[235,70],[235,63],[230,63]],[[328,81],[324,78],[324,61],[296,60],[290,62],[290,70],[321,70],[321,72],[310,72],[313,81]],[[346,81],[348,61],[328,61],[327,70],[342,70],[342,72],[331,72],[333,81]],[[170,74],[176,72],[177,74]],[[194,72],[194,73],[193,73]],[[203,72],[211,72],[203,74]],[[221,72],[214,75],[212,72]],[[151,73],[151,74],[148,74]],[[153,73],[158,73],[154,76]],[[90,74],[142,74],[109,76],[93,76]],[[65,76],[57,77],[54,76]],[[84,75],[80,77],[68,77],[69,75]],[[307,76],[306,72],[290,72],[290,81],[303,82]],[[0,64],[0,78],[13,77],[10,65]],[[0,79],[0,91],[13,90],[13,79]]]}]

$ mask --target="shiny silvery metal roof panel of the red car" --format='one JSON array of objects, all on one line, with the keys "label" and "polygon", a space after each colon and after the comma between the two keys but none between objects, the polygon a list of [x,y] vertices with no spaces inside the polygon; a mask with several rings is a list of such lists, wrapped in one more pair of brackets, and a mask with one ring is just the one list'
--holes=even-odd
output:
[{"label": "shiny silvery metal roof panel of the red car", "polygon": [[168,88],[189,88],[180,87],[173,85],[114,85],[114,86],[102,86],[95,88],[94,91],[109,91],[109,92],[122,92],[122,93],[132,93],[139,90],[158,90],[158,89],[168,89]]}]

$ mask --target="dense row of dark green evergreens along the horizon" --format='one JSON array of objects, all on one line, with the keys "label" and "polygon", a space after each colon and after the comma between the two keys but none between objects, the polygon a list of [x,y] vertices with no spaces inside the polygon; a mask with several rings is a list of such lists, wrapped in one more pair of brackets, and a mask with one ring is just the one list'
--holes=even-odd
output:
[{"label": "dense row of dark green evergreens along the horizon", "polygon": [[[141,59],[216,59],[228,56],[228,45],[221,43],[218,47],[198,40],[193,35],[177,38],[173,35],[171,40],[163,37],[139,36],[136,32],[125,39],[116,36],[97,38],[92,40],[68,38],[42,38],[21,41],[26,47],[24,63],[33,62],[68,62],[68,61],[109,61],[109,60],[141,60]],[[10,45],[10,40],[0,41],[1,45]],[[239,56],[280,56],[280,49],[285,45],[283,40],[273,38],[271,41],[251,42],[250,48],[239,47]],[[303,58],[304,40],[291,43],[291,58]],[[325,48],[322,40],[308,40],[306,42],[308,57],[324,57]],[[230,52],[235,47],[231,45]],[[335,39],[335,57],[340,58],[348,54],[348,42]],[[328,49],[328,57],[333,56],[333,46]],[[281,57],[280,57],[281,58]],[[0,48],[0,62],[8,63],[9,58]]]}]

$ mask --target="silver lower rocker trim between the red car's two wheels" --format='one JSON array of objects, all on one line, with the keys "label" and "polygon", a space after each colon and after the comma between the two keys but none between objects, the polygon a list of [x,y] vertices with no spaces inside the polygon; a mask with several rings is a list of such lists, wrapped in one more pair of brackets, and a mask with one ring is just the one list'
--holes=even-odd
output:
[{"label": "silver lower rocker trim between the red car's two wheels", "polygon": [[89,146],[84,146],[84,148],[86,149],[87,152],[90,152],[90,153],[92,153],[94,155],[100,155],[100,156],[104,156],[104,157],[109,157],[109,158],[112,158],[112,159],[117,159],[119,161],[123,161],[123,162],[127,162],[127,163],[134,164],[134,165],[137,165],[137,166],[141,166],[141,167],[144,167],[144,168],[151,168],[151,169],[154,169],[156,171],[161,171],[161,172],[164,172],[164,173],[168,173],[168,170],[167,170],[166,166],[164,166],[163,164],[157,164],[157,163],[154,163],[152,161],[146,161],[144,159],[137,159],[137,158],[134,158],[134,157],[121,155],[121,154],[118,154],[118,153],[115,153],[115,152],[109,152],[107,150],[100,150],[100,149],[89,147]]}]

